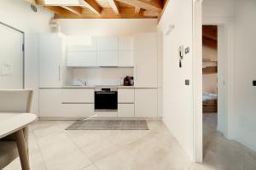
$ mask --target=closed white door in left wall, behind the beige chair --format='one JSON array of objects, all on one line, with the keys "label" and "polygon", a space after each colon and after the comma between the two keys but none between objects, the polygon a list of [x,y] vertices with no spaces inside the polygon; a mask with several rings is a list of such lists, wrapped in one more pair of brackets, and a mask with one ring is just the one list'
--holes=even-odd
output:
[{"label": "closed white door in left wall, behind the beige chair", "polygon": [[24,32],[0,22],[0,89],[24,88]]}]

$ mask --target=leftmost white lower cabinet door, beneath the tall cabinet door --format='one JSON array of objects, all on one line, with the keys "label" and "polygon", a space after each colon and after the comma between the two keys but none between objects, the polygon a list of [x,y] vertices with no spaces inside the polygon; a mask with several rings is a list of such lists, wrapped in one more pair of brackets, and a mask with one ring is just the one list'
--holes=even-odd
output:
[{"label": "leftmost white lower cabinet door, beneath the tall cabinet door", "polygon": [[59,117],[61,111],[61,89],[40,89],[39,117]]}]

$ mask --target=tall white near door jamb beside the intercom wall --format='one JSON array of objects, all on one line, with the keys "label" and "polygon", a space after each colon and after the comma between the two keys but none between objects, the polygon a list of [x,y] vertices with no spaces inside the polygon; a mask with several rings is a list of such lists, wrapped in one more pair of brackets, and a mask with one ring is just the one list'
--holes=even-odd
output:
[{"label": "tall white near door jamb beside the intercom wall", "polygon": [[202,1],[193,0],[193,161],[202,162]]}]

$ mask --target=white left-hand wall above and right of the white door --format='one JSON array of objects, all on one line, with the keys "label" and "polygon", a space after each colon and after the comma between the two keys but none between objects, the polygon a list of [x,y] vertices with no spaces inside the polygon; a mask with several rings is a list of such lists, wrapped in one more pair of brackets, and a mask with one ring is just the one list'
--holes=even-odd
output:
[{"label": "white left-hand wall above and right of the white door", "polygon": [[22,0],[1,0],[0,21],[25,32],[25,88],[34,90],[32,112],[38,113],[38,32],[49,31],[52,14],[42,8],[32,12]]}]

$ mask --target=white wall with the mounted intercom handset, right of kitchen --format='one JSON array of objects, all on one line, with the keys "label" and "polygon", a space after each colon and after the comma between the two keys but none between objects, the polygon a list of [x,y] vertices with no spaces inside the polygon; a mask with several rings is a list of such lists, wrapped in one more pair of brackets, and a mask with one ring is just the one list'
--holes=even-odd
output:
[{"label": "white wall with the mounted intercom handset, right of kitchen", "polygon": [[[170,0],[160,20],[160,29],[175,25],[163,37],[163,122],[179,144],[193,158],[193,105],[192,86],[185,86],[185,79],[192,80],[192,1]],[[179,68],[180,45],[190,48]]]}]

